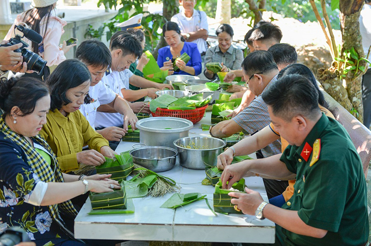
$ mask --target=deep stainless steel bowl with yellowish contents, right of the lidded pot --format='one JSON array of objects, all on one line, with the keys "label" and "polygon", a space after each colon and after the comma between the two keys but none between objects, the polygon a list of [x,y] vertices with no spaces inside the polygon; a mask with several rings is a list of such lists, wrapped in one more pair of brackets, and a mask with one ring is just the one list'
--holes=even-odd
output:
[{"label": "deep stainless steel bowl with yellowish contents, right of the lidded pot", "polygon": [[226,142],[215,137],[184,137],[174,141],[179,163],[191,169],[215,166]]}]

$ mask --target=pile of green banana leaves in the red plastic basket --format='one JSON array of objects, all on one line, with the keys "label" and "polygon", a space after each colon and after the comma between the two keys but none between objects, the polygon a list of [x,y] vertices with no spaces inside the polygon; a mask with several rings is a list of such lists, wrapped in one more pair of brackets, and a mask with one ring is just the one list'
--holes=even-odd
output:
[{"label": "pile of green banana leaves in the red plastic basket", "polygon": [[207,105],[210,100],[211,96],[203,99],[203,93],[181,98],[176,98],[169,94],[163,94],[150,102],[149,109],[153,113],[156,112],[157,108],[172,110],[192,110]]}]

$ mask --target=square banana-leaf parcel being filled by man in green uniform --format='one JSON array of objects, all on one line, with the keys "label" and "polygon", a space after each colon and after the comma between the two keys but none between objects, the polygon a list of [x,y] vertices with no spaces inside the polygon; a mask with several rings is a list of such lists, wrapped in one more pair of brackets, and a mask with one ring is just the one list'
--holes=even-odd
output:
[{"label": "square banana-leaf parcel being filled by man in green uniform", "polygon": [[237,208],[237,206],[231,203],[231,197],[228,196],[230,192],[240,192],[245,193],[245,180],[241,179],[238,182],[232,185],[232,189],[225,190],[222,189],[222,181],[215,185],[215,192],[214,192],[214,211],[220,213],[242,213],[241,210]]}]

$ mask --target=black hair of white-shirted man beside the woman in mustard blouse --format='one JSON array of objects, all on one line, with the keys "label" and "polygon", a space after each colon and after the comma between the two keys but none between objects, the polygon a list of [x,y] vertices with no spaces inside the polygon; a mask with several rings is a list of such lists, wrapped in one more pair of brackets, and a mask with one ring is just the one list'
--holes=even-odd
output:
[{"label": "black hair of white-shirted man beside the woman in mustard blouse", "polygon": [[76,49],[75,58],[93,67],[108,67],[112,62],[111,52],[99,40],[86,40],[80,43]]}]

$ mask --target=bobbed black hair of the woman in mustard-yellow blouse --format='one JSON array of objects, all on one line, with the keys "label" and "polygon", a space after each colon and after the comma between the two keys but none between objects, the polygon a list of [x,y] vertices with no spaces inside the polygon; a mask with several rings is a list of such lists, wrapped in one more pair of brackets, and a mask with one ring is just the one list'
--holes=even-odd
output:
[{"label": "bobbed black hair of the woman in mustard-yellow blouse", "polygon": [[[88,67],[77,59],[68,59],[61,62],[46,79],[46,85],[50,90],[50,110],[61,109],[71,101],[67,98],[66,92],[80,84],[91,81]],[[89,94],[85,97],[84,103],[90,103]]]}]

